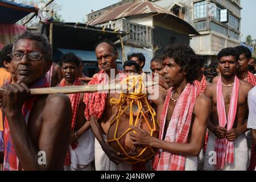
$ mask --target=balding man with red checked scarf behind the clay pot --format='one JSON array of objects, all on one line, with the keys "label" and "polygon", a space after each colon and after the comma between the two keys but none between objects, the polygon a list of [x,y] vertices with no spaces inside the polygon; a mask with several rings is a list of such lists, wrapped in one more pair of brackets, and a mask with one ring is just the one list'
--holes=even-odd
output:
[{"label": "balding man with red checked scarf behind the clay pot", "polygon": [[[102,71],[93,77],[89,85],[118,83],[126,77],[123,72],[118,71],[116,60],[118,52],[112,42],[106,41],[96,47],[96,58]],[[110,71],[114,78],[110,78]],[[118,74],[119,73],[119,74]],[[117,77],[117,75],[119,77]],[[110,80],[112,79],[112,80]],[[117,114],[118,107],[110,105],[110,98],[119,98],[118,93],[92,93],[85,94],[86,104],[85,116],[90,119],[90,126],[95,140],[95,166],[97,171],[131,170],[131,164],[123,162],[120,153],[115,151],[106,143],[106,135],[112,121]],[[122,163],[121,163],[122,162]]]}]

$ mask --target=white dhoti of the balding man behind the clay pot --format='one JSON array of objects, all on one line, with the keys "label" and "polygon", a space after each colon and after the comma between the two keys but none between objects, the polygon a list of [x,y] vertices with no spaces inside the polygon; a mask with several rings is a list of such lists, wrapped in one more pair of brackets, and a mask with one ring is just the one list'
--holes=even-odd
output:
[{"label": "white dhoti of the balding man behind the clay pot", "polygon": [[[103,135],[104,140],[107,140],[106,135]],[[105,152],[102,150],[100,143],[98,140],[95,140],[95,169],[96,171],[132,171],[133,165],[123,162],[121,164],[115,165]]]}]

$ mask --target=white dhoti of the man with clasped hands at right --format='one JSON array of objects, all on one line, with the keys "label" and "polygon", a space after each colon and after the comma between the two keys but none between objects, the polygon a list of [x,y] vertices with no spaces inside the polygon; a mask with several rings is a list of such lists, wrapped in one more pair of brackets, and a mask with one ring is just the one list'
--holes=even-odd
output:
[{"label": "white dhoti of the man with clasped hands at right", "polygon": [[[209,140],[207,144],[207,150],[205,152],[204,159],[204,170],[214,171],[216,169],[216,156],[214,156],[214,146],[216,137],[210,132]],[[246,171],[247,160],[248,160],[248,147],[245,134],[240,135],[233,142],[234,144],[234,163],[225,164],[223,169],[218,169],[222,171]]]}]

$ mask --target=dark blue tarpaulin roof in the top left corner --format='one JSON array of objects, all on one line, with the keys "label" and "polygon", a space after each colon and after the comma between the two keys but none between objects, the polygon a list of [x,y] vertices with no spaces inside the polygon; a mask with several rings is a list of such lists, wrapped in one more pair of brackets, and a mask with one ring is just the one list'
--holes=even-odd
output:
[{"label": "dark blue tarpaulin roof in the top left corner", "polygon": [[37,13],[34,6],[0,0],[0,23],[14,24],[30,13]]}]

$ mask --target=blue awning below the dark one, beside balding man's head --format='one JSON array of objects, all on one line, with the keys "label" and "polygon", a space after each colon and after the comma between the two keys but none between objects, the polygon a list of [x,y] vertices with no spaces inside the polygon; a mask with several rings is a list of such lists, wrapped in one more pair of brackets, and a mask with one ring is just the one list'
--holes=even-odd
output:
[{"label": "blue awning below the dark one, beside balding man's head", "polygon": [[[69,53],[73,52],[76,56],[81,57],[83,61],[97,61],[95,52],[94,51],[81,51],[81,50],[75,50],[75,49],[63,49],[63,48],[57,48],[61,53]],[[121,60],[117,60],[118,62],[122,62]]]}]

